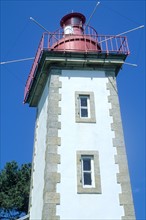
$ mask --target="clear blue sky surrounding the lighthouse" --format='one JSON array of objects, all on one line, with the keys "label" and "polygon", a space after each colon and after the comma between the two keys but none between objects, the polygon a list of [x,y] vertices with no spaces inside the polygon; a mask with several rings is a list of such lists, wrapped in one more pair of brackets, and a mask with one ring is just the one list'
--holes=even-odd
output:
[{"label": "clear blue sky surrounding the lighthouse", "polygon": [[[49,31],[72,10],[87,20],[97,1],[2,1],[1,59],[34,57],[43,30],[29,20],[35,18]],[[145,23],[145,1],[101,1],[90,25],[99,34],[116,35]],[[138,220],[145,217],[145,28],[127,34],[131,54],[117,77],[121,114],[133,198]],[[35,109],[23,105],[24,86],[32,61],[1,65],[0,166],[16,160],[32,160]]]}]

